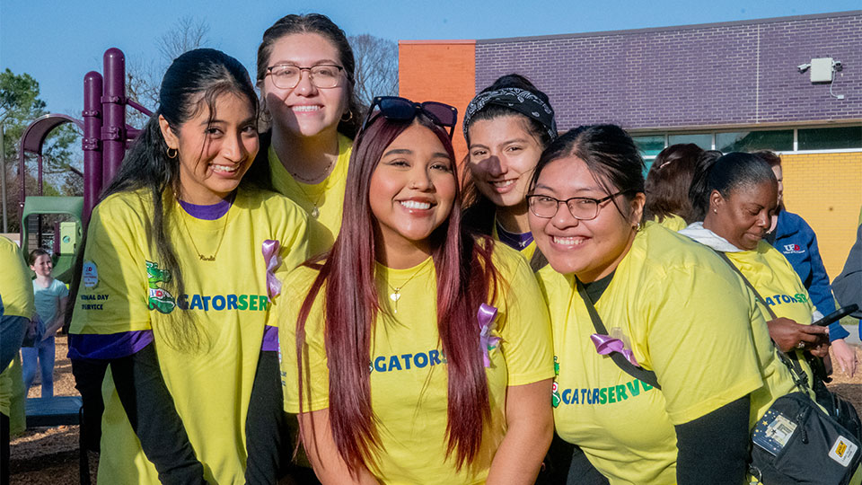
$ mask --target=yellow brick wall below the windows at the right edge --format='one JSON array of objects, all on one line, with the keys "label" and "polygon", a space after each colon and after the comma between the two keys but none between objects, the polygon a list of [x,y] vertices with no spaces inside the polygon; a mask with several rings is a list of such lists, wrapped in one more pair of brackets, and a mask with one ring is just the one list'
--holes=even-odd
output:
[{"label": "yellow brick wall below the windows at the right edge", "polygon": [[823,264],[833,279],[856,241],[862,207],[862,153],[782,154],[784,204],[817,234]]}]

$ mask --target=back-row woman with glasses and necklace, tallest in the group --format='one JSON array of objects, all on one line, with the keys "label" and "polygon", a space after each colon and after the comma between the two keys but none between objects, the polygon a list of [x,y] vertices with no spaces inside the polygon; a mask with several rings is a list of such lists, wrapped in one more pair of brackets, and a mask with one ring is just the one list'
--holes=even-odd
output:
[{"label": "back-row woman with glasses and necklace, tallest in the group", "polygon": [[259,158],[276,190],[309,214],[315,252],[329,249],[341,225],[347,162],[362,116],[355,68],[344,31],[319,13],[279,19],[258,48],[266,130]]}]

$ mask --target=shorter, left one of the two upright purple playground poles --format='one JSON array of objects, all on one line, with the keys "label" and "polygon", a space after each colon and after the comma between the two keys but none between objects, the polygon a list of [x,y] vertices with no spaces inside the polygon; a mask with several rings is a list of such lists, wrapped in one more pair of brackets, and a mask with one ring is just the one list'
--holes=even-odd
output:
[{"label": "shorter, left one of the two upright purple playground poles", "polygon": [[84,228],[101,192],[101,74],[84,75]]}]

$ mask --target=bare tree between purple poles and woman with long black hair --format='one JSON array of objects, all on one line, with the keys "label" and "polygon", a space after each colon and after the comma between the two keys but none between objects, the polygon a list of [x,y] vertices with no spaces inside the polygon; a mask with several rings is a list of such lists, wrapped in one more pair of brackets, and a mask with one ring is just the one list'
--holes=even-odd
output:
[{"label": "bare tree between purple poles and woman with long black hair", "polygon": [[[164,71],[171,65],[173,59],[193,48],[199,48],[209,42],[207,37],[209,25],[194,17],[181,17],[169,31],[162,34],[156,41],[161,58],[133,58],[126,65],[126,93],[128,97],[141,103],[150,110],[155,110],[159,102],[159,84]],[[142,127],[147,117],[137,110],[128,110],[129,124]]]}]

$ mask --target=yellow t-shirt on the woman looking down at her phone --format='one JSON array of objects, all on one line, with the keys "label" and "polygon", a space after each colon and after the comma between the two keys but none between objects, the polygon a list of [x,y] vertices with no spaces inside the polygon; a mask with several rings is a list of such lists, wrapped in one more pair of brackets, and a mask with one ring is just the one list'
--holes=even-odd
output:
[{"label": "yellow t-shirt on the woman looking down at her phone", "polygon": [[[734,261],[736,268],[751,282],[752,287],[761,294],[776,316],[789,318],[802,325],[811,324],[816,308],[811,303],[808,290],[784,254],[773,248],[769,242],[761,241],[753,251],[726,252],[726,255]],[[763,312],[763,318],[772,320],[769,311],[763,308],[760,302],[758,306]],[[811,366],[805,360],[803,352],[794,352],[799,365],[808,375],[808,382],[813,383]]]}]

